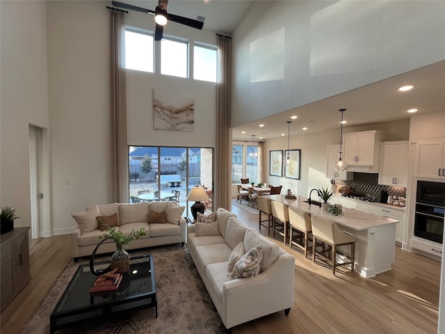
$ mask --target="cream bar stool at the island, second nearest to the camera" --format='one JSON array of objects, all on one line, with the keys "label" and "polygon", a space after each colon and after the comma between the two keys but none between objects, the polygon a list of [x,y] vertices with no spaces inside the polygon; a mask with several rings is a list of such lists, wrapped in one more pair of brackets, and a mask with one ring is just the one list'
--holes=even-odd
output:
[{"label": "cream bar stool at the island, second nearest to the camera", "polygon": [[[292,248],[293,245],[303,250],[306,258],[309,248],[309,234],[312,234],[311,215],[296,207],[289,207],[289,224],[291,225],[289,246]],[[296,232],[296,234],[293,232]]]}]

